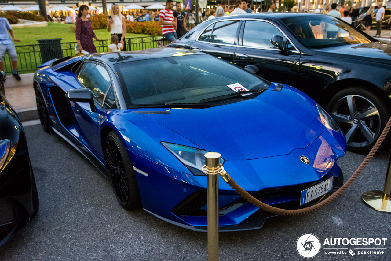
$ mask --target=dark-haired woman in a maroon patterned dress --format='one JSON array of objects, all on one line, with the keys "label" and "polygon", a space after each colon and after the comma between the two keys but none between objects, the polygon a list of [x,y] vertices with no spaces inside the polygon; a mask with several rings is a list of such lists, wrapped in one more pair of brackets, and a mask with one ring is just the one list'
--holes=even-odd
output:
[{"label": "dark-haired woman in a maroon patterned dress", "polygon": [[91,20],[87,18],[88,13],[88,6],[80,5],[76,19],[76,40],[79,46],[79,52],[84,50],[88,53],[96,53],[97,49],[95,48],[92,38],[95,38],[97,41],[101,41],[102,39],[97,38],[92,31]]}]

